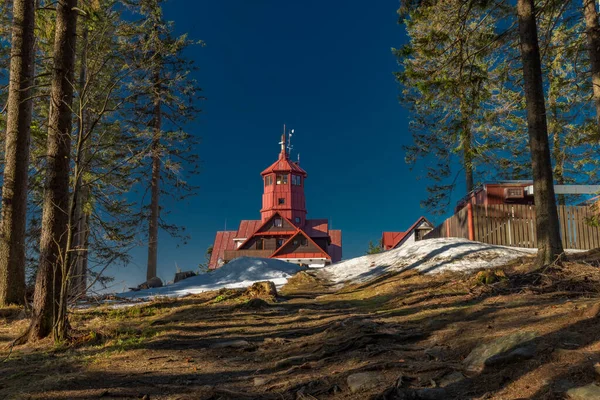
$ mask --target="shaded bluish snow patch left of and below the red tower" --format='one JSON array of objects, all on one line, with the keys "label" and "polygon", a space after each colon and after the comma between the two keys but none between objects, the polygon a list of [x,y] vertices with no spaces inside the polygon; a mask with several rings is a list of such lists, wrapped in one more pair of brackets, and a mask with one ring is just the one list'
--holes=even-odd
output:
[{"label": "shaded bluish snow patch left of and below the red tower", "polygon": [[245,288],[255,282],[271,281],[284,285],[288,278],[304,268],[269,258],[240,257],[211,272],[184,279],[161,288],[125,292],[118,297],[149,299],[154,296],[180,297],[221,288]]}]

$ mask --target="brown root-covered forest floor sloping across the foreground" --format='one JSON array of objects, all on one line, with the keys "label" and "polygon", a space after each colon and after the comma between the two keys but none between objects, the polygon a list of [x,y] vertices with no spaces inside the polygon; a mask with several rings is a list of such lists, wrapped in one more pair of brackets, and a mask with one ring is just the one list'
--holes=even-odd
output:
[{"label": "brown root-covered forest floor sloping across the foreground", "polygon": [[600,255],[575,257],[344,287],[301,272],[266,302],[221,290],[74,310],[72,341],[10,355],[28,320],[0,309],[0,398],[595,398]]}]

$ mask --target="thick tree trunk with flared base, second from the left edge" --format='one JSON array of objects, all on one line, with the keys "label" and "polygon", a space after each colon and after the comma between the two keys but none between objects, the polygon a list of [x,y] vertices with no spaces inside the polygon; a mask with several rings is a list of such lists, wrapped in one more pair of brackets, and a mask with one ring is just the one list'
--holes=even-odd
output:
[{"label": "thick tree trunk with flared base, second from the left edge", "polygon": [[69,207],[69,171],[77,0],[59,0],[56,7],[54,68],[48,118],[47,165],[40,240],[40,265],[35,283],[29,340],[54,332],[55,340],[66,335],[66,313],[59,307],[66,267]]}]

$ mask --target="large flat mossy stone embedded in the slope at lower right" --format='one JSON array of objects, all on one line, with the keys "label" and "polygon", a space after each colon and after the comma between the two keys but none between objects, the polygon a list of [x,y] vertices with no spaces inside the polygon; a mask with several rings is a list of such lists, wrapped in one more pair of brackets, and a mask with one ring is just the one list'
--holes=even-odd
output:
[{"label": "large flat mossy stone embedded in the slope at lower right", "polygon": [[526,345],[538,336],[537,332],[517,332],[500,337],[490,343],[477,346],[465,358],[465,370],[480,373],[486,366],[504,364],[531,358],[535,355],[535,346]]}]

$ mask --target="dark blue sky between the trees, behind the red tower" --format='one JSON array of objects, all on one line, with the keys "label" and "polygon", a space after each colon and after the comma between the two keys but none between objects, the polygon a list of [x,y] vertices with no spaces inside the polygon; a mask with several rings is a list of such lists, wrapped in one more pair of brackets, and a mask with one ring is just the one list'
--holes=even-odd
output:
[{"label": "dark blue sky between the trees, behind the red tower", "polygon": [[[277,157],[283,124],[308,172],[309,218],[343,231],[344,258],[362,255],[384,230],[405,230],[424,213],[426,182],[409,171],[411,142],[398,103],[392,47],[406,40],[398,0],[173,0],[167,19],[203,40],[192,49],[204,90],[203,113],[188,130],[201,138],[197,197],[165,203],[191,241],[177,247],[161,233],[158,275],[175,264],[195,270],[215,232],[258,219],[260,172]],[[436,221],[438,222],[438,221]],[[117,282],[145,279],[146,249]],[[120,290],[117,284],[114,290]]]}]

